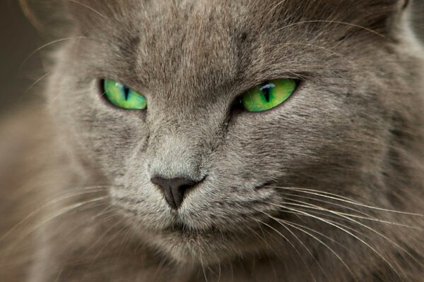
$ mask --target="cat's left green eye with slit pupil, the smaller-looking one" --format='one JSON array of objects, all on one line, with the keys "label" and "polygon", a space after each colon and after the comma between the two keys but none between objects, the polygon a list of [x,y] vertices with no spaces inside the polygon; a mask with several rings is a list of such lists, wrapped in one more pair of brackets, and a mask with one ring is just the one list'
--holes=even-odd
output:
[{"label": "cat's left green eye with slit pupil, the smaller-looking one", "polygon": [[147,109],[146,97],[115,80],[105,79],[103,91],[107,100],[114,106],[127,110]]}]

